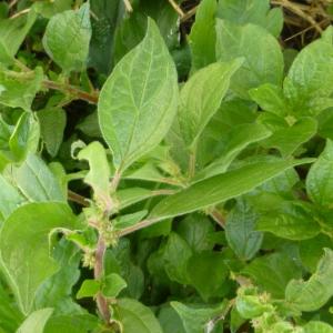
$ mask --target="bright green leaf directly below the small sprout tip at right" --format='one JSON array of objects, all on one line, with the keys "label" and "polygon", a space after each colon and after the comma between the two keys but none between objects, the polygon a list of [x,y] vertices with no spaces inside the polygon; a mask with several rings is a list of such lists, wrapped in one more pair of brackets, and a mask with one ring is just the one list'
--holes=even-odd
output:
[{"label": "bright green leaf directly below the small sprout tip at right", "polygon": [[300,118],[293,125],[289,125],[282,118],[266,113],[260,118],[260,122],[272,131],[272,135],[263,141],[263,147],[276,148],[284,158],[314,137],[317,129],[316,121],[310,117]]}]

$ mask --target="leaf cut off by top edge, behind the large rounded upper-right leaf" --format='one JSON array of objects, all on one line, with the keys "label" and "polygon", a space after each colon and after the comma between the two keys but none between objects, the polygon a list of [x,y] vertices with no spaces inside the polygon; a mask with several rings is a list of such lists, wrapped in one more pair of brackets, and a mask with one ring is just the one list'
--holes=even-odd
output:
[{"label": "leaf cut off by top edge, behind the large rounded upper-right leaf", "polygon": [[282,10],[271,9],[269,0],[220,0],[218,17],[241,26],[261,26],[275,37],[283,27]]}]

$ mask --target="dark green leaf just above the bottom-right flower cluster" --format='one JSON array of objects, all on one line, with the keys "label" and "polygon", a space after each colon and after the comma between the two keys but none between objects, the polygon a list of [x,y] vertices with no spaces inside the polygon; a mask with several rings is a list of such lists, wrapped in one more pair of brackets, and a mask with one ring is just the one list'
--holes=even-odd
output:
[{"label": "dark green leaf just above the bottom-right flower cluster", "polygon": [[276,252],[254,259],[242,274],[251,278],[263,291],[273,297],[284,299],[284,290],[292,279],[302,276],[301,269],[284,253]]}]

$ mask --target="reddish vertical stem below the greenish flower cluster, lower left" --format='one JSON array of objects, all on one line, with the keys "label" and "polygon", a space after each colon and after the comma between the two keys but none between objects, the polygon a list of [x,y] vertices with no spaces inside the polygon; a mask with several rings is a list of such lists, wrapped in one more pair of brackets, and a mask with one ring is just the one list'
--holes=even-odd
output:
[{"label": "reddish vertical stem below the greenish flower cluster, lower left", "polygon": [[[95,264],[93,270],[95,280],[100,280],[103,275],[103,261],[104,261],[105,250],[107,250],[105,242],[103,240],[103,236],[100,234],[98,245],[97,245],[97,251],[95,251]],[[109,304],[107,299],[101,294],[101,292],[99,292],[97,295],[97,304],[103,320],[107,323],[110,323]]]}]

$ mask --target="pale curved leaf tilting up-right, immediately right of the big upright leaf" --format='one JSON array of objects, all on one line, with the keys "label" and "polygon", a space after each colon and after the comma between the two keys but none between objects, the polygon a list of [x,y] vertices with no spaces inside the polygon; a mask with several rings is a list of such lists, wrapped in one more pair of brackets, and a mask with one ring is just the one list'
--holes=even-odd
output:
[{"label": "pale curved leaf tilting up-right, immediately right of the big upright leaf", "polygon": [[230,79],[242,64],[242,60],[232,62],[215,62],[200,71],[183,85],[180,94],[178,122],[180,134],[190,148],[196,141],[220,108]]}]

